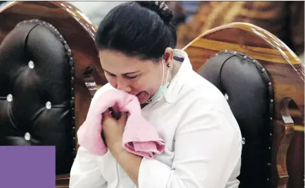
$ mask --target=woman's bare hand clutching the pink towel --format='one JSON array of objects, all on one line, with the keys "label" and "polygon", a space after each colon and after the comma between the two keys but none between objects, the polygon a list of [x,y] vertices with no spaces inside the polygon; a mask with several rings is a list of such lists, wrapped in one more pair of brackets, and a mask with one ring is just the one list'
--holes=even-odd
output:
[{"label": "woman's bare hand clutching the pink towel", "polygon": [[103,134],[110,152],[118,152],[123,149],[123,132],[127,121],[127,113],[121,113],[116,120],[109,110],[103,113]]}]

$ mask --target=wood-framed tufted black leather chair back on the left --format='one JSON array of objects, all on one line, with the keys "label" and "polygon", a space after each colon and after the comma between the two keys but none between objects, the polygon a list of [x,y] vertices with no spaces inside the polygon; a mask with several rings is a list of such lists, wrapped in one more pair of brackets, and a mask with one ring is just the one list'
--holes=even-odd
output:
[{"label": "wood-framed tufted black leather chair back on the left", "polygon": [[0,145],[55,145],[57,179],[67,184],[88,87],[106,83],[96,25],[63,1],[11,3],[0,23]]}]

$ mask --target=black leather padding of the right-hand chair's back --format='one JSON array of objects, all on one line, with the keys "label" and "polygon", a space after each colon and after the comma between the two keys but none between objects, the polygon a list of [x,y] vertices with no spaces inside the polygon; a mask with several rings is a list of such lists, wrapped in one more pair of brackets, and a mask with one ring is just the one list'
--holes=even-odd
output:
[{"label": "black leather padding of the right-hand chair's back", "polygon": [[226,95],[240,125],[244,138],[240,188],[269,187],[273,87],[264,67],[245,54],[221,51],[198,73]]}]

